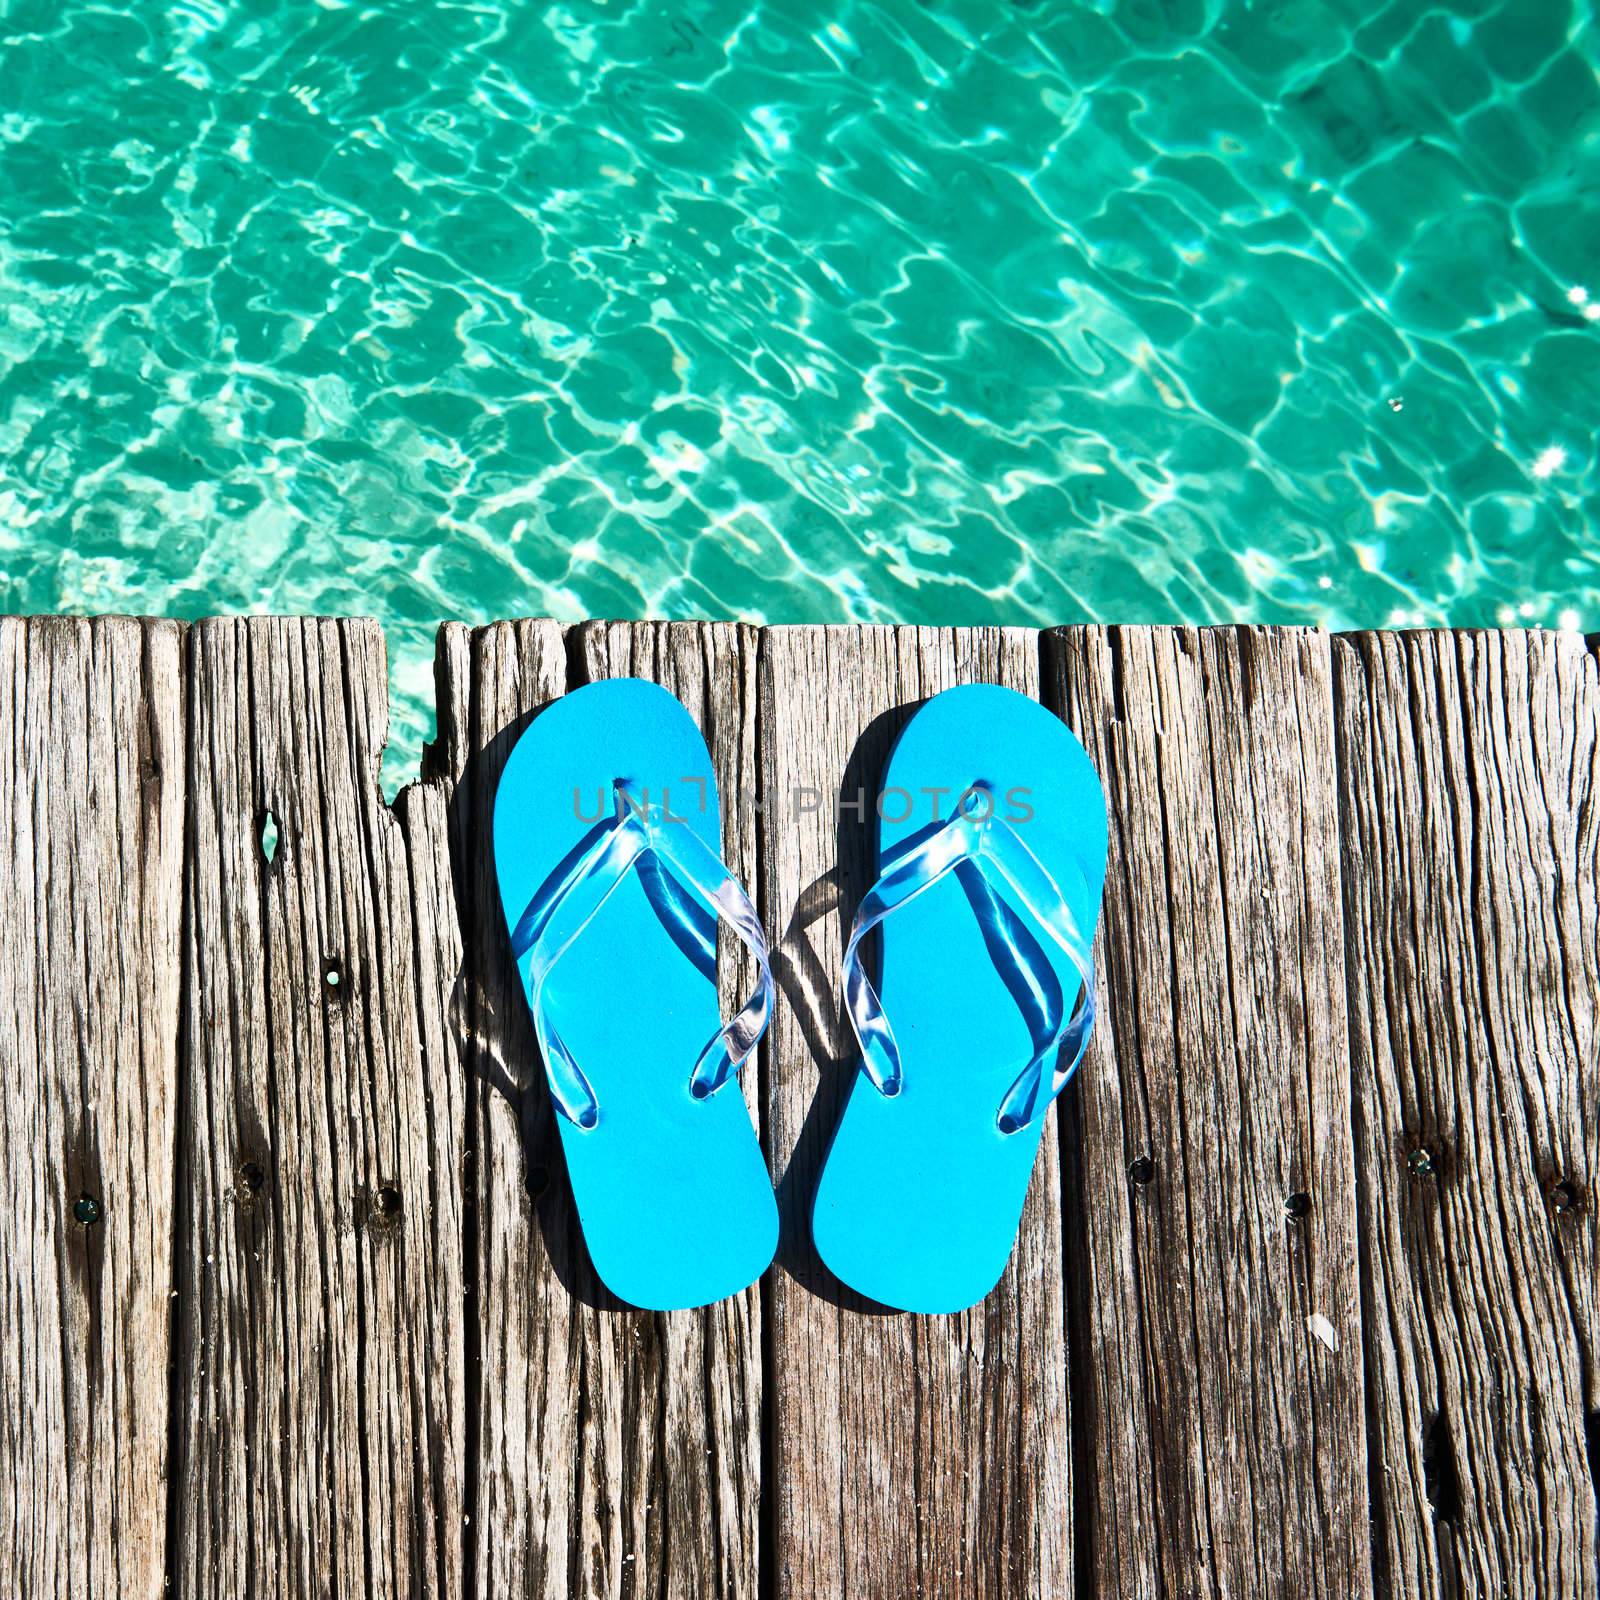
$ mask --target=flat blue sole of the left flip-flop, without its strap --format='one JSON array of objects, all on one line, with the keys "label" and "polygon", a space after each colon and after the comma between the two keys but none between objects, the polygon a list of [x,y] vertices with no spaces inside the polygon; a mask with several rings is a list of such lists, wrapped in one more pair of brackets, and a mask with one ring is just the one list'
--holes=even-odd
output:
[{"label": "flat blue sole of the left flip-flop, without its strap", "polygon": [[[611,816],[618,779],[666,797],[722,853],[717,779],[690,714],[638,678],[587,685],[533,720],[499,782],[494,867],[507,928]],[[778,1245],[778,1206],[749,1110],[736,1082],[709,1099],[690,1094],[720,1024],[715,958],[669,931],[648,870],[622,878],[550,971],[544,1002],[600,1106],[589,1131],[560,1114],[555,1123],[606,1288],[674,1310],[755,1282]]]}]

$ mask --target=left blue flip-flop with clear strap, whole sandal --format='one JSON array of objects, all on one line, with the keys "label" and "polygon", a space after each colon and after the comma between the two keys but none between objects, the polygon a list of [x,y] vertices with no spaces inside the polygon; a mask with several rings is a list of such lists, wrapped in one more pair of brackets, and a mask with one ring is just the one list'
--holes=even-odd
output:
[{"label": "left blue flip-flop with clear strap, whole sandal", "polygon": [[[773,1011],[766,941],[722,862],[717,778],[674,696],[613,678],[517,741],[494,867],[595,1270],[650,1310],[754,1283],[778,1205],[739,1064]],[[726,1026],[717,917],[760,981]]]}]

